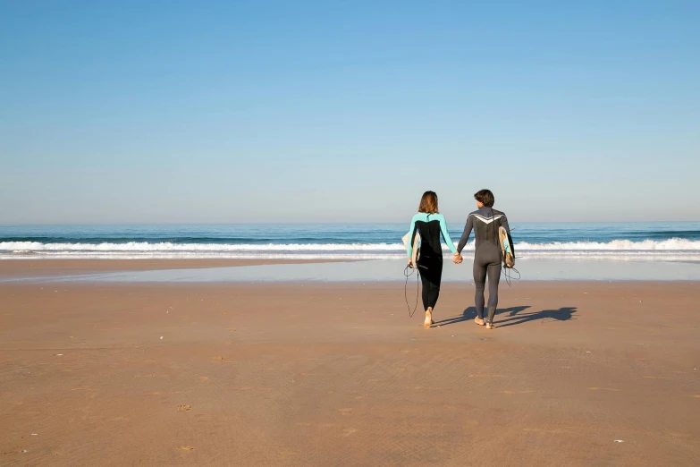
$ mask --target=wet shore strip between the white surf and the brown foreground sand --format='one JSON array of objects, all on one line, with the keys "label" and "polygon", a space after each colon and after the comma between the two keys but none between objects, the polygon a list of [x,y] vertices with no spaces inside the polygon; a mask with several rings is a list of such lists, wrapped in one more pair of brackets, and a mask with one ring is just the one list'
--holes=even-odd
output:
[{"label": "wet shore strip between the white surf and the brown foreground sand", "polygon": [[[283,259],[46,259],[0,261],[0,283],[403,283],[405,259],[283,260]],[[518,282],[699,282],[700,264],[672,261],[521,259]],[[444,261],[443,284],[471,283],[471,265]],[[506,284],[507,270],[502,272]],[[518,280],[517,277],[520,279]],[[415,270],[409,283],[415,282]]]}]

